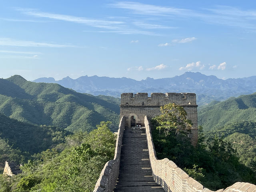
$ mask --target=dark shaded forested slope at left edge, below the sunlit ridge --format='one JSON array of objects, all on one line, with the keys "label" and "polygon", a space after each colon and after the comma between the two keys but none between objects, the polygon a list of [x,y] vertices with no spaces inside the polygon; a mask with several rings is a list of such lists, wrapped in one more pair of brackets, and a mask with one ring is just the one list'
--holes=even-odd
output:
[{"label": "dark shaded forested slope at left edge, below the sunlit ridge", "polygon": [[0,171],[6,160],[24,163],[34,153],[64,142],[70,132],[55,126],[36,126],[0,114]]}]

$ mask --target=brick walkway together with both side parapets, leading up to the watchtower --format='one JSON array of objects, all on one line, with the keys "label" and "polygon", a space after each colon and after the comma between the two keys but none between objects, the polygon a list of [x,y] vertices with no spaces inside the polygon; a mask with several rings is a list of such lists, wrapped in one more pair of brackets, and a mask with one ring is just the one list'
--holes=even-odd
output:
[{"label": "brick walkway together with both side parapets, leading up to the watchtower", "polygon": [[[145,128],[125,128],[125,122],[122,117],[114,160],[105,164],[94,192],[212,192],[189,177],[174,162],[156,158],[147,116],[144,118]],[[256,192],[256,186],[236,182],[216,192]]]}]

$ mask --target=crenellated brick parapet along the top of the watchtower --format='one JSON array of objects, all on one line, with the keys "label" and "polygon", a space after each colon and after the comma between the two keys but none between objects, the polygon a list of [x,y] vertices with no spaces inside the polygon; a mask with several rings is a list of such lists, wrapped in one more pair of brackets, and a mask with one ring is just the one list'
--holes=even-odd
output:
[{"label": "crenellated brick parapet along the top of the watchtower", "polygon": [[177,105],[196,105],[194,93],[122,93],[121,106],[164,106],[168,103]]}]

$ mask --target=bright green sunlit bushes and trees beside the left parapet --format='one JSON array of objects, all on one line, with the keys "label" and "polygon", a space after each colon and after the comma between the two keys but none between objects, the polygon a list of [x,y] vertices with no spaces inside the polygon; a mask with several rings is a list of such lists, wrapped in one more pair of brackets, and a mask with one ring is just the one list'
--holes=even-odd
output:
[{"label": "bright green sunlit bushes and trees beside the left parapet", "polygon": [[116,135],[110,122],[101,122],[89,134],[77,132],[63,144],[34,156],[22,174],[0,176],[4,192],[91,192],[104,164],[114,157]]}]

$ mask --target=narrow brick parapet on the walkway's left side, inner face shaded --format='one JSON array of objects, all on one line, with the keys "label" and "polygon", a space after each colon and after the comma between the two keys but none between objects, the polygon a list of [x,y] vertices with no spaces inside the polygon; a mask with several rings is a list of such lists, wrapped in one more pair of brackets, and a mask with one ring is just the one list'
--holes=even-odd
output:
[{"label": "narrow brick parapet on the walkway's left side, inner face shaded", "polygon": [[118,132],[117,132],[114,160],[110,160],[106,162],[104,168],[100,173],[100,177],[96,182],[93,192],[113,192],[113,189],[116,185],[116,180],[119,175],[120,154],[121,154],[121,146],[122,146],[125,122],[126,122],[126,118],[122,116],[119,123]]}]

